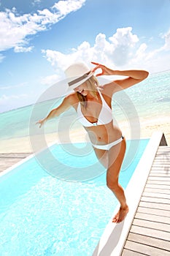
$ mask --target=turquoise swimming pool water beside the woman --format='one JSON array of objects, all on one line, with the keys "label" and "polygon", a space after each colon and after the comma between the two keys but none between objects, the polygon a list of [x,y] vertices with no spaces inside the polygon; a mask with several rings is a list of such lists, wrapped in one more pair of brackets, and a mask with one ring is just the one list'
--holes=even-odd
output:
[{"label": "turquoise swimming pool water beside the woman", "polygon": [[[148,141],[139,140],[134,161],[120,172],[120,184],[124,188]],[[127,154],[130,143],[128,140]],[[75,168],[75,162],[77,167],[82,167],[97,161],[93,151],[82,156],[81,161],[75,161],[62,150],[61,146],[51,147],[53,154],[63,156],[59,162],[67,161],[65,170],[70,165]],[[44,160],[47,162],[45,155]],[[106,186],[105,171],[100,173],[85,176],[83,181],[69,182],[63,176],[51,176],[37,159],[31,158],[1,176],[1,255],[92,255],[117,205]]]}]

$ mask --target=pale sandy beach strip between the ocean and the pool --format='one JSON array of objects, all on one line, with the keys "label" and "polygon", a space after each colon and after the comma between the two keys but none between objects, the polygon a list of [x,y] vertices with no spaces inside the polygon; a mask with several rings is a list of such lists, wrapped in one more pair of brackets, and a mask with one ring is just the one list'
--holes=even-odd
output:
[{"label": "pale sandy beach strip between the ocean and the pool", "polygon": [[[131,130],[127,127],[127,123],[122,122],[119,124],[120,129],[123,131],[123,135],[125,138],[131,139]],[[156,121],[152,120],[145,120],[140,122],[140,138],[150,138],[153,132],[161,131],[164,133],[166,137],[166,142],[170,145],[170,121],[167,118],[157,118]],[[58,136],[56,133],[50,133],[45,135],[45,141],[48,146],[52,143],[77,143],[77,142],[84,142],[87,141],[87,135],[85,130],[77,129],[71,131],[70,134],[70,141],[64,140],[64,136]],[[62,138],[62,139],[61,139]],[[21,138],[10,138],[1,140],[1,148],[0,153],[34,153],[32,148],[32,144],[41,143],[42,135],[36,135],[35,138],[21,137]],[[62,140],[62,141],[61,141]]]}]

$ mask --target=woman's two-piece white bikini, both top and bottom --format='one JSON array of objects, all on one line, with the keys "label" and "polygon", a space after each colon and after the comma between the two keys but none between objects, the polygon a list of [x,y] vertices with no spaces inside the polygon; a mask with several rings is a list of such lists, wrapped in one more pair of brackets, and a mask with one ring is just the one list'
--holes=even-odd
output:
[{"label": "woman's two-piece white bikini, both top and bottom", "polygon": [[[107,105],[107,102],[104,100],[104,97],[102,96],[101,91],[98,90],[98,93],[101,97],[101,102],[102,102],[101,112],[98,116],[98,121],[94,123],[91,123],[90,121],[88,121],[88,119],[85,118],[85,116],[82,114],[80,102],[78,103],[77,116],[78,116],[78,120],[83,125],[83,127],[93,127],[98,125],[109,124],[112,121],[112,109],[109,108],[109,105]],[[92,145],[94,148],[109,150],[110,148],[112,148],[112,146],[117,145],[122,140],[123,140],[123,136],[121,136],[121,138],[109,144],[105,144],[105,145],[92,144]]]}]

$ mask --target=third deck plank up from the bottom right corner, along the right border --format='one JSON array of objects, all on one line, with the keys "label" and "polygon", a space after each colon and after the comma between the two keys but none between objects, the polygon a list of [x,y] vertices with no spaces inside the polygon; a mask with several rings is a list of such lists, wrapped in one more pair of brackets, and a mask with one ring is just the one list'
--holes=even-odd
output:
[{"label": "third deck plank up from the bottom right corner, along the right border", "polygon": [[170,241],[169,232],[162,231],[162,230],[155,230],[155,229],[148,228],[148,227],[139,227],[136,225],[132,225],[131,233],[137,233],[137,234],[144,235],[144,236],[146,236],[146,234],[147,234],[147,236],[150,236],[153,238]]}]

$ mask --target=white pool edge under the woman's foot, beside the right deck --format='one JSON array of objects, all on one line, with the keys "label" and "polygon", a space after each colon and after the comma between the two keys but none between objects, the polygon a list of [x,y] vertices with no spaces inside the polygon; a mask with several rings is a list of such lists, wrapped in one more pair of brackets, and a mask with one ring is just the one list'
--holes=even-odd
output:
[{"label": "white pool edge under the woman's foot, beside the right deck", "polygon": [[[93,256],[110,255],[120,256],[125,245],[126,238],[128,236],[131,224],[134,220],[139,201],[142,197],[147,177],[152,167],[152,162],[155,158],[155,154],[158,150],[158,146],[161,145],[161,141],[164,138],[163,132],[153,132],[147,146],[142,154],[142,158],[139,160],[138,165],[134,171],[128,186],[125,189],[125,196],[129,206],[129,212],[123,222],[119,224],[112,223],[112,218],[109,220],[104,233],[102,234],[98,245],[93,252]],[[134,198],[135,193],[135,198]],[[112,217],[115,216],[120,206],[115,208]]]}]

